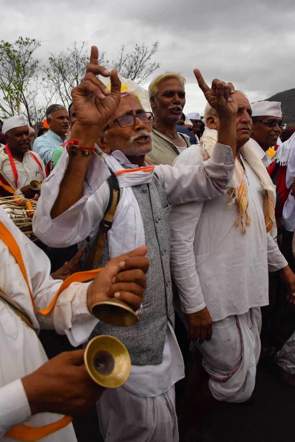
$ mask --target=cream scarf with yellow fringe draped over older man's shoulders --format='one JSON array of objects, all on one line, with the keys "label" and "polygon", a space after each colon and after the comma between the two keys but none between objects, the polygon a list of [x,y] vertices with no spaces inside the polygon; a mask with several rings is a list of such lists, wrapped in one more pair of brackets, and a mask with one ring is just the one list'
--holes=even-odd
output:
[{"label": "cream scarf with yellow fringe draped over older man's shoulders", "polygon": [[[215,143],[217,141],[217,130],[209,129],[205,127],[203,136],[200,138],[200,145],[202,146],[202,155],[204,160],[208,160],[211,157]],[[262,163],[262,161],[257,156],[257,152],[253,147],[253,141],[250,140],[242,147],[241,153],[250,164],[253,171],[258,175],[261,181],[262,187],[267,191],[265,195],[265,200],[263,203],[263,213],[265,217],[266,231],[270,232],[272,226],[274,225],[274,207],[276,203],[276,189],[272,184],[272,180]],[[244,177],[244,172],[240,162],[235,160],[234,177],[231,182],[231,187],[229,188],[229,193],[231,197],[229,199],[228,205],[232,206],[234,202],[237,202],[239,208],[239,214],[237,217],[236,225],[239,225],[239,219],[241,219],[242,231],[246,233],[246,227],[244,225],[243,215],[246,215],[246,225],[251,224],[251,218],[247,213],[247,183]]]}]

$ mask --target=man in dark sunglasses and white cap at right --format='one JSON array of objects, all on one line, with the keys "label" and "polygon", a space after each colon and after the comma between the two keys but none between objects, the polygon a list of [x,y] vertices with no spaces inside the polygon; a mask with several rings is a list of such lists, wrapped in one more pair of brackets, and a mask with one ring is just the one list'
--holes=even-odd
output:
[{"label": "man in dark sunglasses and white cap at right", "polygon": [[254,140],[252,144],[265,167],[272,162],[267,153],[268,149],[280,144],[280,133],[284,127],[280,106],[281,103],[278,101],[251,103],[253,122],[251,138]]}]

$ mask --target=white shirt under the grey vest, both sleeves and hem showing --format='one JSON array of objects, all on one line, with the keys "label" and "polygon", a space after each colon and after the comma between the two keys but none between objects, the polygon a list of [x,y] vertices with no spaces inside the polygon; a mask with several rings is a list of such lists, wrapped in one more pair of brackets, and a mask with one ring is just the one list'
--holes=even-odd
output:
[{"label": "white shirt under the grey vest, both sleeves and hem showing", "polygon": [[[33,220],[34,232],[51,246],[59,244],[59,247],[65,247],[86,237],[92,239],[98,231],[109,201],[109,186],[106,182],[101,185],[102,177],[106,179],[109,171],[98,156],[91,156],[82,198],[59,217],[52,219],[50,211],[57,198],[67,165],[68,152],[64,149],[53,173],[42,185],[42,195]],[[168,202],[180,203],[223,194],[230,184],[233,169],[231,149],[217,143],[211,160],[203,165],[191,168],[160,165],[155,166],[155,174],[166,192]],[[211,176],[214,176],[214,179]],[[158,396],[182,377],[182,354],[174,331],[168,325],[162,363],[132,366],[130,377],[122,388],[137,396]]]}]

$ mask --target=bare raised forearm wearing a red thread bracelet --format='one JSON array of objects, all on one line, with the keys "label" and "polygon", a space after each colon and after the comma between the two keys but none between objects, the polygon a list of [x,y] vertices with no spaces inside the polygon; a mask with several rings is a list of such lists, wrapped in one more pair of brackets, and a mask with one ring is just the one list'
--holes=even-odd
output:
[{"label": "bare raised forearm wearing a red thread bracelet", "polygon": [[[71,140],[76,138],[80,146],[93,147],[98,139],[97,126],[80,126],[78,122],[73,126]],[[82,197],[83,183],[87,166],[91,156],[69,154],[68,167],[64,173],[57,199],[50,212],[52,218],[56,218],[73,206]]]}]

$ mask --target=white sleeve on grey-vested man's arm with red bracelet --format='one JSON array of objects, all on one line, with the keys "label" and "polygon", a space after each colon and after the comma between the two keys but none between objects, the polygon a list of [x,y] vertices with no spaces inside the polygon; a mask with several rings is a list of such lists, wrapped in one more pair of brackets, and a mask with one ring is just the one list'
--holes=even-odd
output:
[{"label": "white sleeve on grey-vested man's arm with red bracelet", "polygon": [[[42,183],[41,196],[33,217],[35,235],[51,247],[68,247],[87,236],[90,239],[94,237],[110,198],[110,188],[106,182],[110,171],[97,155],[91,155],[82,198],[66,212],[52,219],[50,212],[67,166],[68,152],[64,149],[56,168]],[[95,192],[99,187],[100,191]]]}]

